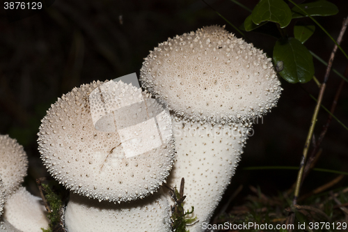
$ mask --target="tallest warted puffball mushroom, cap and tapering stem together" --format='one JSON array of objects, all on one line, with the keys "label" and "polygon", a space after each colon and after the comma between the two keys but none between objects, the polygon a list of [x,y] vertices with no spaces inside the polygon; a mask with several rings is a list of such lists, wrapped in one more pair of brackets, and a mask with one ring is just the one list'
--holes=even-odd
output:
[{"label": "tallest warted puffball mushroom, cap and tapering stem together", "polygon": [[230,183],[250,120],[280,98],[271,59],[224,27],[207,26],[159,43],[140,80],[173,111],[177,155],[168,184],[185,178],[185,206],[194,206],[199,219],[189,229],[203,231]]}]

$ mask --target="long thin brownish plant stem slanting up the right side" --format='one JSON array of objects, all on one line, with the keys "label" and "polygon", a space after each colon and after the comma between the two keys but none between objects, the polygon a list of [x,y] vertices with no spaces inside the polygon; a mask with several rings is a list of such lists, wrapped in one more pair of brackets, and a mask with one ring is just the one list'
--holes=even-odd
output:
[{"label": "long thin brownish plant stem slanting up the right side", "polygon": [[320,105],[322,104],[322,99],[323,99],[324,91],[325,91],[325,88],[326,88],[326,82],[329,79],[331,66],[332,66],[332,63],[333,63],[333,59],[335,58],[335,52],[337,51],[337,48],[338,48],[340,42],[342,41],[342,37],[343,37],[343,35],[345,33],[345,29],[347,28],[347,24],[348,24],[348,17],[347,17],[347,19],[344,21],[344,23],[342,25],[342,29],[340,31],[340,35],[338,36],[337,44],[333,47],[333,51],[331,52],[331,56],[330,56],[330,59],[329,59],[329,65],[326,68],[326,73],[325,73],[325,76],[324,76],[324,82],[320,86],[320,91],[319,91],[317,105],[315,106],[315,111],[313,113],[312,121],[310,123],[310,129],[308,131],[306,143],[305,143],[305,146],[303,148],[303,154],[302,154],[302,157],[301,157],[301,164],[300,164],[299,173],[298,173],[297,179],[296,179],[296,188],[295,188],[295,192],[294,192],[294,199],[292,200],[292,205],[293,206],[296,205],[297,199],[299,197],[299,192],[300,192],[300,188],[301,188],[301,178],[302,178],[302,175],[303,175],[304,164],[306,163],[306,157],[307,157],[307,154],[308,154],[308,148],[309,148],[309,145],[310,145],[310,139],[312,139],[312,137],[313,137],[313,131],[314,131],[314,128],[315,128],[315,123],[317,122],[317,116],[318,116],[318,113],[319,113]]}]

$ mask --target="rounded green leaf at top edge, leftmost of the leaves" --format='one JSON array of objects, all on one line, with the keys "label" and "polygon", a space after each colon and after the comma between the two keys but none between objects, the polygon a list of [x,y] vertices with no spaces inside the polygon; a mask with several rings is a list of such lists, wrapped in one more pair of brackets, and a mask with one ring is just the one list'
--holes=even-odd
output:
[{"label": "rounded green leaf at top edge, leftmost of the leaves", "polygon": [[292,13],[283,0],[261,0],[251,13],[255,24],[271,21],[280,24],[283,28],[290,24]]}]

